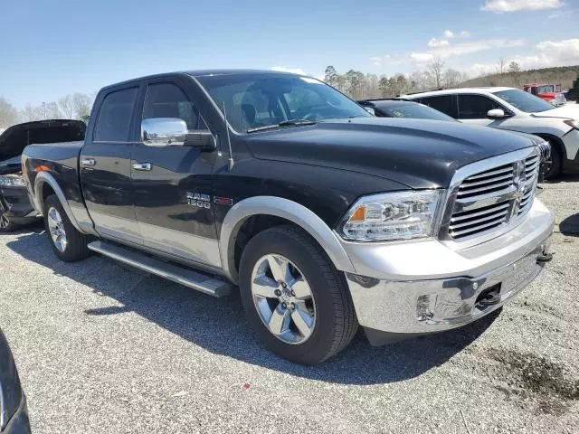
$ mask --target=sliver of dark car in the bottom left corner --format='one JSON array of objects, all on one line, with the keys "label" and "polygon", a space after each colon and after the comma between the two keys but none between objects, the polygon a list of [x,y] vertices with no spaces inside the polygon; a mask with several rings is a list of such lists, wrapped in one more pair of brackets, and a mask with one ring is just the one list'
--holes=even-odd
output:
[{"label": "sliver of dark car in the bottom left corner", "polygon": [[5,335],[0,329],[0,433],[30,434],[26,397]]}]

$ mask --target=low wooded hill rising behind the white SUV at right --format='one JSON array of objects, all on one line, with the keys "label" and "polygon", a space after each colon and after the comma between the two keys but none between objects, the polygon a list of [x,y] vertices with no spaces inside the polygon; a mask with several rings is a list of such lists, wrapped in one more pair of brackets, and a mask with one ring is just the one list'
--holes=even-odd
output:
[{"label": "low wooded hill rising behind the white SUV at right", "polygon": [[579,65],[558,66],[555,68],[542,68],[540,70],[486,75],[463,81],[458,87],[508,86],[521,89],[523,84],[526,83],[546,83],[560,84],[562,90],[567,90],[573,87],[573,81],[577,80],[577,77],[579,77]]}]

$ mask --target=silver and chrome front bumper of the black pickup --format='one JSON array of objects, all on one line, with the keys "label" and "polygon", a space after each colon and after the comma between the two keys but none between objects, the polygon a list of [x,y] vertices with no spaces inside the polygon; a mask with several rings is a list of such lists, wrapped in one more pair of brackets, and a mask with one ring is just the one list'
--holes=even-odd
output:
[{"label": "silver and chrome front bumper of the black pickup", "polygon": [[[346,273],[371,344],[467,325],[502,306],[543,269],[554,219],[537,199],[515,228],[462,249],[451,242],[343,242]],[[456,244],[456,243],[455,243]],[[537,259],[539,259],[537,261]]]}]

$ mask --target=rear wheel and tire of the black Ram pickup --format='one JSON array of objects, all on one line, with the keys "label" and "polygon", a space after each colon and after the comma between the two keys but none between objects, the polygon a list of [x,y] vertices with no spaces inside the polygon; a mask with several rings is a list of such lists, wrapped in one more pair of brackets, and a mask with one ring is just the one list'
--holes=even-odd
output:
[{"label": "rear wheel and tire of the black Ram pickup", "polygon": [[[44,227],[51,239],[52,250],[64,262],[76,262],[90,256],[90,237],[72,225],[61,201],[55,194],[44,202]],[[60,242],[58,241],[60,239]]]}]

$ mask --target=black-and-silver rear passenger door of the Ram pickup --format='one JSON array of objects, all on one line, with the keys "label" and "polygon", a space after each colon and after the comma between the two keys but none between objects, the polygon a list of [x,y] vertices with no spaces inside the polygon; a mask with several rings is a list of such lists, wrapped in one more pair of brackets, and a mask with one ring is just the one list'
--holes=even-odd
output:
[{"label": "black-and-silver rear passenger door of the Ram pickup", "polygon": [[138,84],[109,90],[81,151],[84,200],[104,238],[140,242],[133,207],[130,151],[135,134],[134,111]]}]

